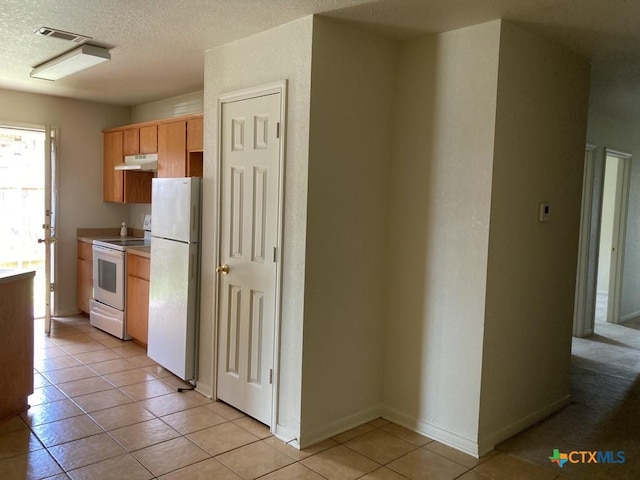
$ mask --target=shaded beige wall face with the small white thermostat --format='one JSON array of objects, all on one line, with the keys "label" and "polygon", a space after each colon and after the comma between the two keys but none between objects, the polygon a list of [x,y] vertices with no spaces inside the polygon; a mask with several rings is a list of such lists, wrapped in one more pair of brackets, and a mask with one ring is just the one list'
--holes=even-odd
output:
[{"label": "shaded beige wall face with the small white thermostat", "polygon": [[498,85],[481,453],[568,401],[589,65],[503,22]]}]

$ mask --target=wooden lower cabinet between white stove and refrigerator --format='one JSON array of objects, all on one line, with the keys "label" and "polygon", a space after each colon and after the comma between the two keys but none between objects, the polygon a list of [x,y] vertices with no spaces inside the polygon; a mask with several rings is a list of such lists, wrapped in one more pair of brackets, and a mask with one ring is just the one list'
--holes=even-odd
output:
[{"label": "wooden lower cabinet between white stove and refrigerator", "polygon": [[127,252],[127,333],[147,344],[149,327],[149,271],[147,257]]}]

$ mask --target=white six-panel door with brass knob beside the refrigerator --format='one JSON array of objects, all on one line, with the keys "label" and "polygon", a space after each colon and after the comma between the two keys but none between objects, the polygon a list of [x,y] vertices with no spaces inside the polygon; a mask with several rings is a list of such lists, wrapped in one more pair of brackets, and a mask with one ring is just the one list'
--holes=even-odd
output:
[{"label": "white six-panel door with brass knob beside the refrigerator", "polygon": [[218,398],[271,425],[281,94],[222,104]]}]

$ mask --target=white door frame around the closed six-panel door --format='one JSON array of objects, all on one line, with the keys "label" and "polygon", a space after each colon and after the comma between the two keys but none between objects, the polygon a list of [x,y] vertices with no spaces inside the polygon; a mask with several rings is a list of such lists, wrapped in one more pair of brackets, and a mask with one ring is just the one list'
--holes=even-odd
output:
[{"label": "white door frame around the closed six-panel door", "polygon": [[[248,100],[250,98],[262,97],[274,93],[280,94],[280,158],[278,166],[278,222],[277,232],[278,241],[276,246],[276,280],[275,280],[275,312],[274,312],[274,339],[273,339],[273,408],[271,413],[271,432],[275,433],[278,424],[278,398],[279,398],[279,372],[280,372],[280,315],[281,315],[281,295],[282,295],[282,258],[283,258],[283,231],[284,231],[284,172],[285,172],[285,150],[286,150],[286,112],[287,112],[287,81],[282,80],[266,85],[256,86],[248,89],[238,90],[220,95],[218,97],[218,132],[217,132],[217,179],[216,179],[216,201],[218,202],[217,220],[215,222],[214,241],[215,241],[215,264],[220,264],[220,221],[222,207],[222,105],[224,103]],[[215,353],[213,355],[213,398],[217,398],[218,389],[218,328],[220,323],[220,286],[219,277],[214,277],[214,325],[213,325],[213,345]]]}]

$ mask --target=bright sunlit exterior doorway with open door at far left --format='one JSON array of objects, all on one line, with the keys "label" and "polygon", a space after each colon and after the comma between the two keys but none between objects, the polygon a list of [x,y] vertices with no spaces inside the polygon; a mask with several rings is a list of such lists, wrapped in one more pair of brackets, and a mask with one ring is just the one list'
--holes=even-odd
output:
[{"label": "bright sunlit exterior doorway with open door at far left", "polygon": [[0,269],[36,272],[34,318],[45,325],[52,306],[53,134],[45,127],[0,126]]}]

